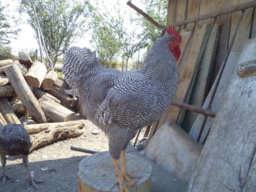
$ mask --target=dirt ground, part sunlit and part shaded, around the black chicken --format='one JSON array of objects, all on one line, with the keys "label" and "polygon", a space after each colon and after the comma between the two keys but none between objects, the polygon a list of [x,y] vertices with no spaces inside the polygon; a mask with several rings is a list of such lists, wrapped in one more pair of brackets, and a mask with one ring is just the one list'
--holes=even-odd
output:
[{"label": "dirt ground, part sunlit and part shaded, around the black chicken", "polygon": [[[27,172],[22,166],[22,158],[19,156],[7,156],[5,170],[12,180],[6,180],[3,187],[0,181],[0,192],[12,191],[42,191],[42,192],[76,192],[78,191],[78,166],[86,156],[90,155],[78,151],[70,150],[71,146],[86,148],[94,151],[108,151],[108,139],[105,134],[86,120],[89,128],[84,130],[84,134],[78,138],[71,138],[52,143],[48,146],[39,148],[29,155],[29,169],[35,180],[44,181],[36,183],[38,190],[27,185]],[[92,134],[94,129],[99,134]],[[139,139],[144,133],[140,133]],[[134,141],[135,139],[133,139]],[[0,166],[2,174],[2,166]],[[113,164],[114,169],[114,164]]]}]

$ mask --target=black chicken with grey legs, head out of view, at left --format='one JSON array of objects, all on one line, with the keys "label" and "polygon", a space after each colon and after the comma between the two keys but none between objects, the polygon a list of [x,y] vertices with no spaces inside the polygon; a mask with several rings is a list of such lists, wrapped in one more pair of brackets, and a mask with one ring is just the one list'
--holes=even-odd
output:
[{"label": "black chicken with grey legs, head out of view, at left", "polygon": [[30,136],[27,130],[21,124],[8,124],[4,127],[0,123],[0,157],[1,164],[3,166],[3,175],[0,177],[0,180],[3,180],[3,186],[5,184],[5,180],[12,179],[5,172],[5,164],[6,164],[6,155],[15,156],[21,155],[23,166],[25,167],[27,174],[29,175],[29,183],[25,187],[28,188],[32,185],[34,188],[38,189],[35,183],[43,182],[36,181],[31,176],[29,172],[28,165],[28,156],[29,156],[29,148],[32,146],[30,141]]}]

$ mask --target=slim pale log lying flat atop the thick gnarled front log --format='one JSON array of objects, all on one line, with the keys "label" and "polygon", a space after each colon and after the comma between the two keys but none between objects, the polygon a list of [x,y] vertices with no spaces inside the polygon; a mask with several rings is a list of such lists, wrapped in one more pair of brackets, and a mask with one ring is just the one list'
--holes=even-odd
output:
[{"label": "slim pale log lying flat atop the thick gnarled front log", "polygon": [[85,120],[78,120],[78,121],[68,121],[68,122],[61,122],[61,123],[41,123],[41,124],[34,124],[34,125],[25,125],[25,129],[29,134],[31,133],[40,133],[41,131],[46,131],[48,129],[54,129],[58,127],[70,127],[73,125],[83,125],[87,127],[85,124]]}]

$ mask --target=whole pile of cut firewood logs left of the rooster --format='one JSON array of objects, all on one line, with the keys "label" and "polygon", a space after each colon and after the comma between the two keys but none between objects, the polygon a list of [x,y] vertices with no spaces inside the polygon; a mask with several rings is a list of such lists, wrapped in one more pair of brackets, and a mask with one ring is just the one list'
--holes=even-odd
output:
[{"label": "whole pile of cut firewood logs left of the rooster", "polygon": [[84,133],[76,118],[76,99],[57,73],[19,52],[19,61],[0,61],[0,122],[23,124],[31,134],[31,150]]}]

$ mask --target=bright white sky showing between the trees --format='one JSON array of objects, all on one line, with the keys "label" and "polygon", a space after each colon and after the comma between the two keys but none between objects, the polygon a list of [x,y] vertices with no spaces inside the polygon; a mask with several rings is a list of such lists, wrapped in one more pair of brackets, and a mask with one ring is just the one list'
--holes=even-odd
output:
[{"label": "bright white sky showing between the trees", "polygon": [[[93,2],[93,0],[91,0],[91,1]],[[128,5],[126,5],[127,0],[121,0],[120,3],[123,4],[125,8],[130,9],[131,11],[134,11],[134,10],[132,10],[132,8],[130,8]],[[8,8],[5,9],[6,14],[19,15],[19,13],[17,13],[15,11],[15,9],[19,6],[18,0],[1,0],[1,4],[3,6],[6,4],[10,4],[8,6]],[[138,2],[135,5],[138,6],[139,8],[141,8],[140,6],[142,6]],[[25,20],[27,20],[28,16],[26,14],[23,14],[22,18],[25,21]],[[20,23],[19,28],[21,29],[21,31],[19,32],[18,38],[11,39],[12,42],[9,46],[11,48],[15,48],[15,49],[38,49],[39,45],[37,43],[37,39],[35,39],[35,32],[32,29],[32,27],[27,23]],[[89,33],[87,33],[84,36],[85,37],[83,37],[83,38],[75,39],[75,42],[72,44],[72,46],[79,46],[79,47],[86,46],[86,47],[90,48],[91,44],[90,44],[89,40],[91,38],[91,35]]]}]

